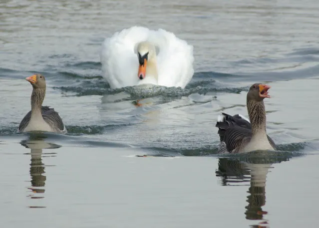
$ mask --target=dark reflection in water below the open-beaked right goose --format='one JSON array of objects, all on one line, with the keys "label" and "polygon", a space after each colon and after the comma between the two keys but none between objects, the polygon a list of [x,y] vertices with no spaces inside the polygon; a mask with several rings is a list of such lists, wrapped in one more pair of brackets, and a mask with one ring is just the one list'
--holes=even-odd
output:
[{"label": "dark reflection in water below the open-beaked right goose", "polygon": [[[256,154],[255,154],[256,155]],[[269,159],[268,159],[269,158]],[[222,185],[249,185],[245,215],[248,220],[259,220],[253,228],[270,227],[264,218],[268,212],[263,210],[266,204],[266,177],[273,163],[287,161],[290,157],[249,157],[219,158],[216,176],[221,177]]]}]

